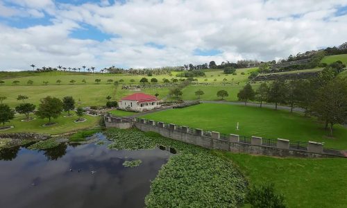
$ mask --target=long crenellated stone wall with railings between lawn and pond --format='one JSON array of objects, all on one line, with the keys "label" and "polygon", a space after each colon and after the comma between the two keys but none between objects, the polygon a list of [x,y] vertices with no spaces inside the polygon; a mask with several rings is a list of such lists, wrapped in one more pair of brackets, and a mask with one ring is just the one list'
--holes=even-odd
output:
[{"label": "long crenellated stone wall with railings between lawn and pond", "polygon": [[295,148],[287,139],[251,137],[251,139],[246,141],[240,139],[239,135],[221,135],[219,132],[211,132],[206,136],[204,130],[201,129],[178,126],[174,123],[169,124],[146,119],[132,119],[132,121],[121,118],[109,120],[105,116],[105,124],[107,128],[136,127],[144,132],[158,132],[163,137],[176,139],[188,144],[194,144],[208,149],[226,150],[233,153],[276,157],[344,157],[344,155],[340,155],[339,153],[324,152],[323,144],[314,141],[305,143],[306,146],[301,146],[301,148]]}]

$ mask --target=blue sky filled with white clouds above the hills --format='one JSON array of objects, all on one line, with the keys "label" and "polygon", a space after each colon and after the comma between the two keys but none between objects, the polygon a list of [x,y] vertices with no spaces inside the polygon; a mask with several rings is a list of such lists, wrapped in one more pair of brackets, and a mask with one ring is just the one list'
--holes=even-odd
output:
[{"label": "blue sky filled with white clouds above the hills", "polygon": [[278,60],[346,34],[346,0],[0,0],[0,71]]}]

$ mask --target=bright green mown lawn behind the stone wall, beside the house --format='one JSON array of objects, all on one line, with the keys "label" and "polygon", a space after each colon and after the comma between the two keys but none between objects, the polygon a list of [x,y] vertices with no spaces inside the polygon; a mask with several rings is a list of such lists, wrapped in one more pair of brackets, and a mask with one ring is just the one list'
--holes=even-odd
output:
[{"label": "bright green mown lawn behind the stone wall, beside the house", "polygon": [[[303,114],[260,107],[203,103],[183,109],[165,110],[142,116],[145,119],[215,130],[226,134],[258,136],[291,141],[320,141],[325,147],[347,149],[347,128],[335,126],[328,138],[323,124]],[[239,130],[236,130],[239,122]]]}]

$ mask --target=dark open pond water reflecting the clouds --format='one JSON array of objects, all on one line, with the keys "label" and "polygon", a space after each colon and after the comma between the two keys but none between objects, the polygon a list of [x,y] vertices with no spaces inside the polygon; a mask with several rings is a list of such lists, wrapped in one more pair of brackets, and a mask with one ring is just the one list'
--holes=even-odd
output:
[{"label": "dark open pond water reflecting the clouds", "polygon": [[[9,149],[0,153],[0,207],[144,207],[169,155],[159,148],[109,150],[107,144]],[[142,164],[122,165],[131,159]]]}]

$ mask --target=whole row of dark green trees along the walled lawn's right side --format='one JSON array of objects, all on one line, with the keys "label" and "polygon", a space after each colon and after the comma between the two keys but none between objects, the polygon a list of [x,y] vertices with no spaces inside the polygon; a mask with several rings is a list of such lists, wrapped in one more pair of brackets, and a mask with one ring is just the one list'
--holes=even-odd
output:
[{"label": "whole row of dark green trees along the walled lawn's right side", "polygon": [[305,115],[316,116],[324,122],[330,135],[335,124],[347,123],[347,78],[337,76],[331,67],[323,69],[316,78],[310,80],[274,80],[270,85],[262,83],[256,90],[248,83],[239,91],[239,101],[259,101],[285,104],[305,110]]}]

